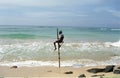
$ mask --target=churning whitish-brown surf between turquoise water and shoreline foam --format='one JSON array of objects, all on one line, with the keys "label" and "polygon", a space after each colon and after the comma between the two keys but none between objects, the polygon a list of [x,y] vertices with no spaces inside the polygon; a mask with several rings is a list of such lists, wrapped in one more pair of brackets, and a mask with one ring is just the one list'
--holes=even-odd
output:
[{"label": "churning whitish-brown surf between turquoise water and shoreline foam", "polygon": [[[7,44],[3,44],[3,41],[0,41],[0,43],[1,62],[57,60],[57,51],[54,51],[52,42],[13,40],[13,43],[7,42]],[[83,58],[108,60],[111,57],[120,56],[120,41],[63,43],[61,46],[61,56],[64,58],[63,60]]]}]

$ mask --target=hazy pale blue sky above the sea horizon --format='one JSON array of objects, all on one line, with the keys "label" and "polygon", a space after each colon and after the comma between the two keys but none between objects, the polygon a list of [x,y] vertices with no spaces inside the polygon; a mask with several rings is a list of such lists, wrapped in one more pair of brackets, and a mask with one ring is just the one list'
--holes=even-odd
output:
[{"label": "hazy pale blue sky above the sea horizon", "polygon": [[0,0],[0,25],[120,27],[120,0]]}]

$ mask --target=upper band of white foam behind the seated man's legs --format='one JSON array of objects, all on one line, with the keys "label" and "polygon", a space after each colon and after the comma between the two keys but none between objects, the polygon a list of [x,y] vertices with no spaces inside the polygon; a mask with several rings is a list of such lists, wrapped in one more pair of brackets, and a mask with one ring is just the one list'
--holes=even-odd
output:
[{"label": "upper band of white foam behind the seated man's legs", "polygon": [[[62,49],[66,52],[73,51],[93,51],[104,48],[120,47],[120,41],[118,42],[79,42],[79,43],[64,43]],[[40,50],[51,51],[54,49],[53,43],[50,42],[27,42],[16,44],[0,45],[0,53],[5,52],[37,52]]]}]

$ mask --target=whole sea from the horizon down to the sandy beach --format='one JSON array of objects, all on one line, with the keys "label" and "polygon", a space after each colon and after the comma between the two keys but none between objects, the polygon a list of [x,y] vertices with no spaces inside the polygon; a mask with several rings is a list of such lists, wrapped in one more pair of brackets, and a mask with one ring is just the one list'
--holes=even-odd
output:
[{"label": "whole sea from the horizon down to the sandy beach", "polygon": [[58,66],[57,28],[65,36],[61,66],[120,64],[120,28],[1,25],[0,65]]}]

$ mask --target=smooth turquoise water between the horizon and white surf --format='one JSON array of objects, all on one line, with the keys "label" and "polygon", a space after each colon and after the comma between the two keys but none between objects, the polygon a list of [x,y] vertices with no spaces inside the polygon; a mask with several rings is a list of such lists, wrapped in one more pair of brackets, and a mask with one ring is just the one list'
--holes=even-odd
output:
[{"label": "smooth turquoise water between the horizon and white surf", "polygon": [[[53,26],[0,26],[0,38],[53,39],[56,29],[63,30],[66,39],[78,41],[111,41],[120,39],[120,28],[107,27],[53,27]],[[113,37],[114,36],[114,37]]]}]

